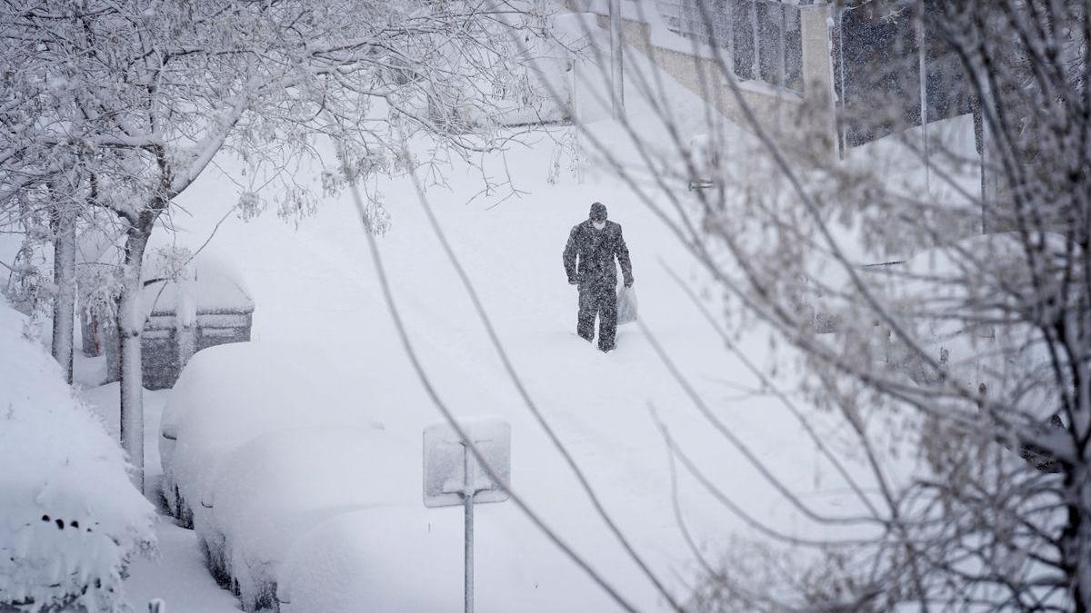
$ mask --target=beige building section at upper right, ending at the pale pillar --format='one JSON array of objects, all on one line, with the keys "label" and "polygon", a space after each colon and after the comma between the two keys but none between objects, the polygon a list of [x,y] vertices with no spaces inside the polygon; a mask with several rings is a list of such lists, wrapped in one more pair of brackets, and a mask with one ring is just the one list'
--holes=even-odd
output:
[{"label": "beige building section at upper right, ending at the pale pillar", "polygon": [[[567,0],[610,27],[607,0]],[[834,151],[830,7],[779,0],[622,0],[622,40],[743,128]],[[723,67],[731,69],[724,74]],[[736,96],[729,84],[733,79]]]}]

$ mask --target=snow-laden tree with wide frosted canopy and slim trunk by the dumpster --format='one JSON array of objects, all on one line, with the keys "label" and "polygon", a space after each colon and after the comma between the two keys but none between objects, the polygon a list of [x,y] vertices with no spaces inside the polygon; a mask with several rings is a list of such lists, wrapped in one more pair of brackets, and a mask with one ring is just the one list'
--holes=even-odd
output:
[{"label": "snow-laden tree with wide frosted canopy and slim trunk by the dumpster", "polygon": [[[480,2],[12,0],[2,12],[0,189],[49,181],[68,155],[80,193],[95,178],[89,205],[124,224],[121,436],[136,466],[142,263],[172,200],[223,155],[275,179],[287,160],[344,152],[358,175],[343,183],[501,147],[494,121],[515,95],[502,84],[525,70],[509,32],[542,34],[530,5]],[[435,157],[400,159],[421,134],[440,143]],[[295,189],[285,181],[273,184]]]}]

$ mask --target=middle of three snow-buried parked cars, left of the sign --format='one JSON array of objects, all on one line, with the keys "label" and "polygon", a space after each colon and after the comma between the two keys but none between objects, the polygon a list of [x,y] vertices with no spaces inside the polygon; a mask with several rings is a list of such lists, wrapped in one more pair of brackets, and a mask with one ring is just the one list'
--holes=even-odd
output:
[{"label": "middle of three snow-buried parked cars, left of the sign", "polygon": [[420,504],[419,441],[379,428],[267,432],[228,454],[216,472],[195,528],[214,574],[248,610],[274,606],[277,569],[315,525],[351,510]]}]

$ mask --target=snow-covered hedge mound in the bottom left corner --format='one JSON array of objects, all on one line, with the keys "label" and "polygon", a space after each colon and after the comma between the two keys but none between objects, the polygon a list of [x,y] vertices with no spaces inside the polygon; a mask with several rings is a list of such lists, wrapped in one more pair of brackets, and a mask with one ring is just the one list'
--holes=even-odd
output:
[{"label": "snow-covered hedge mound in the bottom left corner", "polygon": [[121,448],[0,301],[0,610],[120,611],[154,509]]}]

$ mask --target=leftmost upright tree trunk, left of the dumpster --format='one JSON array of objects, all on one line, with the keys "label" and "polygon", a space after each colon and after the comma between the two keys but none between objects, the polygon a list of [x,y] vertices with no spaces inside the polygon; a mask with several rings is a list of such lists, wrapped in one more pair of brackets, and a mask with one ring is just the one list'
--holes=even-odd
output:
[{"label": "leftmost upright tree trunk, left of the dumpster", "polygon": [[72,345],[75,338],[75,215],[70,207],[53,212],[53,338],[52,354],[64,381],[72,383]]}]

